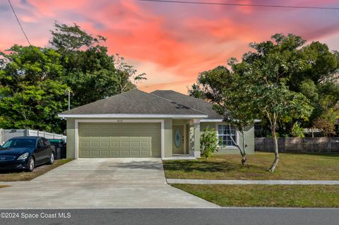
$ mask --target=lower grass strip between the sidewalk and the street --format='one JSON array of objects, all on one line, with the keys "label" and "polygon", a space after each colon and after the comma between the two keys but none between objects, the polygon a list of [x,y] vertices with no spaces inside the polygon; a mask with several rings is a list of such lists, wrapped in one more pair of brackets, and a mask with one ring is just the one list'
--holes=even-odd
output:
[{"label": "lower grass strip between the sidewalk and the street", "polygon": [[172,186],[222,207],[339,207],[339,186]]}]

